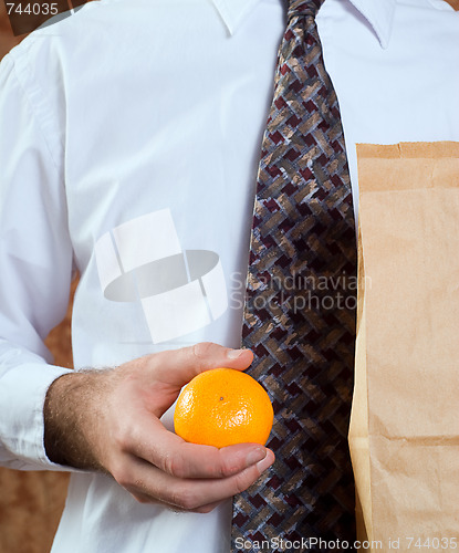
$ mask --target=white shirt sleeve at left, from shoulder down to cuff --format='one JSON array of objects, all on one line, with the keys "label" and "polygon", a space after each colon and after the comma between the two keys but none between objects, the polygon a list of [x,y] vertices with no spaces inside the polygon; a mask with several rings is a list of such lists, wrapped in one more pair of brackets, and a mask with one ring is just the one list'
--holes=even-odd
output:
[{"label": "white shirt sleeve at left, from shoulder down to cuff", "polygon": [[21,71],[11,54],[0,64],[0,465],[63,470],[43,446],[46,390],[69,372],[43,343],[72,276],[63,146]]}]

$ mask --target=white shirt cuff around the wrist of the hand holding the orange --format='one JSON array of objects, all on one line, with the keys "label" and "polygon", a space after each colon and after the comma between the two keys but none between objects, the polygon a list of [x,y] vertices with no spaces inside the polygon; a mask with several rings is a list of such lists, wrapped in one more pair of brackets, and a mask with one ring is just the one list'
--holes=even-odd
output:
[{"label": "white shirt cuff around the wrist of the hand holding the orange", "polygon": [[0,380],[0,465],[17,470],[73,470],[51,462],[44,449],[43,406],[50,385],[71,369],[25,363]]}]

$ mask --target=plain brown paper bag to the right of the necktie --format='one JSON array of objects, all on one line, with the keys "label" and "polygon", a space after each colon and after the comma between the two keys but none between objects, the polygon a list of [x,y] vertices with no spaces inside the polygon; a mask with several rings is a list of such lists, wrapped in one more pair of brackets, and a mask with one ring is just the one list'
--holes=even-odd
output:
[{"label": "plain brown paper bag to the right of the necktie", "polygon": [[357,157],[359,539],[459,551],[459,143],[358,145]]}]

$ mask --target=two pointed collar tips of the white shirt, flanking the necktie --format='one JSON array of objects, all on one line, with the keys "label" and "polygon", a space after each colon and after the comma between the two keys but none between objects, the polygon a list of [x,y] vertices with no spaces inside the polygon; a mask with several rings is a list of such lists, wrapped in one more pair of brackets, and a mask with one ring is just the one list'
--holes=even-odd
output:
[{"label": "two pointed collar tips of the white shirt, flanking the necktie", "polygon": [[[220,13],[230,34],[261,0],[211,0]],[[390,39],[396,0],[351,0],[375,31],[382,48]]]}]

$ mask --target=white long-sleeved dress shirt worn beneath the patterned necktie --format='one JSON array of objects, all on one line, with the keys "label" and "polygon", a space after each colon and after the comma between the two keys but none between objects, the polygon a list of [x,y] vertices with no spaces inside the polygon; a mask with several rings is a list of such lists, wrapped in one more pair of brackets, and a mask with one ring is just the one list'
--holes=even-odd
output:
[{"label": "white long-sleeved dress shirt worn beneath the patterned necktie", "polygon": [[[317,15],[357,206],[356,143],[459,140],[459,13],[442,0],[326,0]],[[0,462],[61,469],[43,338],[74,267],[80,367],[213,341],[237,347],[282,0],[102,0],[0,65]],[[166,421],[168,424],[168,421]],[[227,553],[210,514],[71,478],[54,553]]]}]

